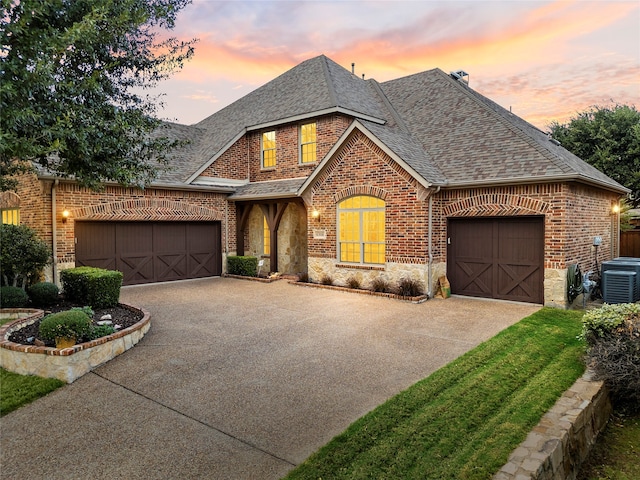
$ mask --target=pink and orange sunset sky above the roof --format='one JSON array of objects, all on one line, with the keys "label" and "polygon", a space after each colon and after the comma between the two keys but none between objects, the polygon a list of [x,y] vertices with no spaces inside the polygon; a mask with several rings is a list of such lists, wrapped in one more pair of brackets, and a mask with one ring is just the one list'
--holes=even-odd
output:
[{"label": "pink and orange sunset sky above the roof", "polygon": [[198,39],[151,91],[187,125],[320,54],[378,82],[464,70],[543,130],[594,105],[640,108],[639,0],[193,0],[162,35]]}]

